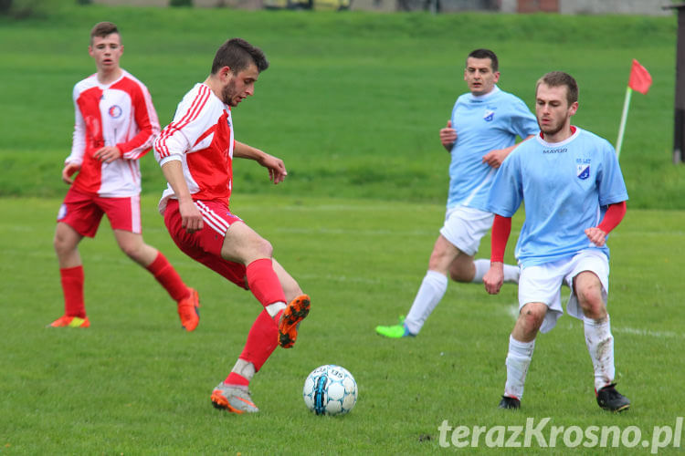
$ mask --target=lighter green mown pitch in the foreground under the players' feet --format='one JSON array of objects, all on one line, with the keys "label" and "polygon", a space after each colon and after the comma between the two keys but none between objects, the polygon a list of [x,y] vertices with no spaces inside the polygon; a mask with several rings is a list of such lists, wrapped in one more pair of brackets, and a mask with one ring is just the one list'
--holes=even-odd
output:
[{"label": "lighter green mown pitch in the foreground under the players' feet", "polygon": [[[416,339],[374,333],[410,306],[441,205],[237,196],[234,211],[272,241],[312,296],[296,346],[277,350],[253,380],[261,412],[241,417],[214,409],[209,394],[233,366],[258,303],[174,248],[156,198],[143,200],[145,237],[201,291],[195,332],[179,328],[174,303],[118,251],[107,223],[81,248],[92,325],[43,327],[62,311],[51,251],[58,202],[2,200],[4,453],[416,454],[442,450],[443,420],[493,427],[550,417],[550,427],[637,426],[648,438],[683,414],[682,212],[631,211],[612,234],[609,310],[621,390],[633,408],[612,415],[596,406],[582,324],[564,316],[538,338],[522,410],[507,413],[496,405],[515,287],[490,296],[481,285],[453,283]],[[486,239],[482,254],[488,246]],[[357,405],[342,419],[317,417],[301,399],[304,378],[327,363],[350,369],[359,384]],[[564,450],[561,439],[557,446]],[[583,450],[598,451],[576,449]],[[535,445],[524,452],[537,451],[549,452]]]}]

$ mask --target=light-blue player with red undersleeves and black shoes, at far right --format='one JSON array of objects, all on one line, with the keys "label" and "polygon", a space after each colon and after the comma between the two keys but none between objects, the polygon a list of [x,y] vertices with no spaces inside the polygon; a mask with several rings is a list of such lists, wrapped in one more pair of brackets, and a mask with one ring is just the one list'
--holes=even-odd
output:
[{"label": "light-blue player with red undersleeves and black shoes, at far right", "polygon": [[571,125],[577,109],[574,78],[560,71],[540,78],[535,112],[541,132],[507,157],[490,188],[487,207],[495,213],[495,222],[490,270],[483,277],[490,294],[500,291],[511,216],[525,201],[525,222],[516,245],[520,312],[509,339],[501,409],[521,407],[535,337],[538,331],[550,331],[564,313],[564,283],[571,288],[567,312],[584,321],[597,403],[611,411],[630,407],[614,388],[614,337],[606,312],[606,236],[626,213],[626,184],[611,144]]}]

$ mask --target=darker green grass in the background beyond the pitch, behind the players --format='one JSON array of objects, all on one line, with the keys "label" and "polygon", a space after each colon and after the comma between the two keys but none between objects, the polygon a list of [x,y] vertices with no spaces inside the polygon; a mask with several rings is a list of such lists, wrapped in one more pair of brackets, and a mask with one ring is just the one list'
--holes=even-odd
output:
[{"label": "darker green grass in the background beyond the pitch, behind the players", "polygon": [[[141,78],[163,124],[205,79],[227,37],[263,47],[271,67],[234,113],[239,140],[283,158],[290,179],[274,191],[255,168],[241,192],[443,203],[448,155],[437,139],[465,91],[475,47],[501,60],[500,86],[532,107],[543,73],[577,78],[574,122],[614,143],[632,58],[651,72],[633,96],[621,162],[630,207],[685,209],[685,167],[671,164],[675,75],[673,17],[374,15],[227,9],[65,7],[45,19],[0,17],[0,195],[60,196],[70,150],[73,85],[93,71],[90,27],[121,27],[121,65]],[[143,191],[162,175],[142,161]],[[6,176],[6,177],[5,177]]]}]

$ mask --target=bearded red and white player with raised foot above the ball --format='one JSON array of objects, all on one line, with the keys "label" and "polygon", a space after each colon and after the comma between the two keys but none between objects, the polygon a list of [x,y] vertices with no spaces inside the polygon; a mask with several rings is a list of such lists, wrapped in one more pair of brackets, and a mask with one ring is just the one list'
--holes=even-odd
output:
[{"label": "bearded red and white player with raised foot above the ball", "polygon": [[[229,39],[216,51],[211,74],[178,104],[174,120],[154,141],[169,182],[159,210],[178,247],[264,307],[228,377],[212,391],[218,409],[257,412],[248,385],[278,345],[290,348],[310,310],[310,297],[272,257],[273,248],[229,210],[233,159],[257,161],[274,183],[287,175],[283,161],[234,138],[231,109],[254,94],[269,62],[258,47]],[[286,303],[289,303],[286,305]]]}]

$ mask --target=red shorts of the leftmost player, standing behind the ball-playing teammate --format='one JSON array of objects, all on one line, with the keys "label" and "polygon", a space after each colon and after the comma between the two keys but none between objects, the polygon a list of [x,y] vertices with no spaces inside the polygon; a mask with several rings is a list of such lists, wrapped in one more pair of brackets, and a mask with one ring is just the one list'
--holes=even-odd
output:
[{"label": "red shorts of the leftmost player, standing behind the ball-playing teammate", "polygon": [[103,198],[71,187],[59,207],[57,221],[67,223],[82,236],[95,237],[105,213],[113,230],[142,233],[141,197],[138,195]]}]

